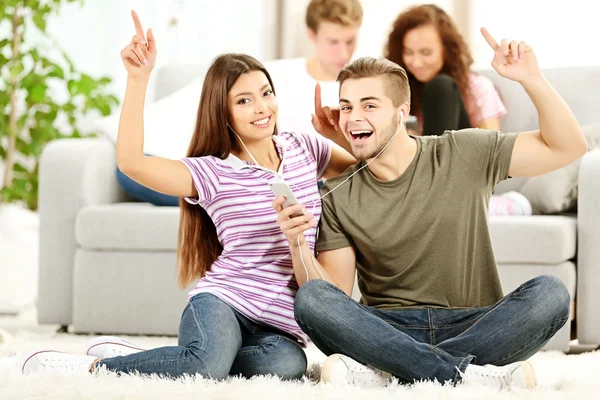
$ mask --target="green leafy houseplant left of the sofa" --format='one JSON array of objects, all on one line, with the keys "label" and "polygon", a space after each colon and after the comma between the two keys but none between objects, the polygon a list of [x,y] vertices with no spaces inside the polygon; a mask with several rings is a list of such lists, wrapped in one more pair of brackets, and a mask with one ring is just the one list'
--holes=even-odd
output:
[{"label": "green leafy houseplant left of the sofa", "polygon": [[[78,72],[46,32],[48,18],[67,3],[83,5],[83,0],[0,0],[0,32],[8,32],[0,36],[0,200],[31,210],[37,209],[44,146],[92,135],[78,130],[78,118],[109,115],[119,103],[108,93],[110,78]],[[34,33],[47,44],[32,46],[28,35]]]}]

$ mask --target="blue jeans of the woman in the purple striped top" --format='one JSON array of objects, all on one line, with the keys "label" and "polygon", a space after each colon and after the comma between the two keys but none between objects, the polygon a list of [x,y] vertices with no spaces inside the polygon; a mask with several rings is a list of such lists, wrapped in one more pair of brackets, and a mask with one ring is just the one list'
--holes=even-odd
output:
[{"label": "blue jeans of the woman in the purple striped top", "polygon": [[271,374],[291,380],[304,376],[306,364],[306,354],[292,336],[257,325],[218,297],[200,293],[183,311],[178,346],[106,358],[97,368],[212,379]]}]

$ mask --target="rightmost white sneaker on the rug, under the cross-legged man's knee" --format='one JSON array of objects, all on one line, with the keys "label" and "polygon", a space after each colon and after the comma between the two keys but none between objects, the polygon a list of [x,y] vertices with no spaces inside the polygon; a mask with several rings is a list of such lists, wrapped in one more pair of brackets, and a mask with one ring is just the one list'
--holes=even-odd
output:
[{"label": "rightmost white sneaker on the rug, under the cross-legged man's knee", "polygon": [[526,361],[503,367],[470,364],[461,376],[465,384],[491,386],[499,390],[533,389],[537,386],[533,366]]}]

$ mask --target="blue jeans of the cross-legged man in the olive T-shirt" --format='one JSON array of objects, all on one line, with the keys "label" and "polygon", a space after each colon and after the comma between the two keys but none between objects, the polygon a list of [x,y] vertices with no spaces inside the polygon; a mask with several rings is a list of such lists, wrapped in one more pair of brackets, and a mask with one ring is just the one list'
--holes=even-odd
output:
[{"label": "blue jeans of the cross-legged man in the olive T-shirt", "polygon": [[470,363],[526,360],[565,324],[569,311],[565,285],[550,275],[481,308],[380,310],[322,280],[303,284],[294,305],[296,321],[323,353],[345,354],[404,383],[456,383]]}]

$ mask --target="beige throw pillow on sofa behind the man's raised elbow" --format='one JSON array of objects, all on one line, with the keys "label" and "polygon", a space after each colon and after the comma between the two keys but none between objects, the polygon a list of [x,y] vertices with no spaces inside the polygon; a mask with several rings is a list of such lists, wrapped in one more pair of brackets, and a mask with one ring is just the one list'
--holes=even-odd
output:
[{"label": "beige throw pillow on sofa behind the man's raised elbow", "polygon": [[[600,148],[600,124],[586,125],[583,133],[588,149]],[[544,175],[527,179],[520,188],[534,214],[556,214],[577,205],[577,183],[581,159]]]}]

